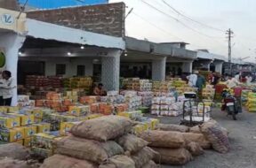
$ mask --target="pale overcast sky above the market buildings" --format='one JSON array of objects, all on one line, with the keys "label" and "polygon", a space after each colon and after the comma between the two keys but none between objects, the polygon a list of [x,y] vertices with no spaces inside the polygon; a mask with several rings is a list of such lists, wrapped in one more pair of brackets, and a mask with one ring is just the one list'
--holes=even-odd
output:
[{"label": "pale overcast sky above the market buildings", "polygon": [[[152,42],[188,42],[228,57],[226,31],[234,34],[232,57],[256,62],[255,0],[110,0],[124,2],[126,35]],[[173,9],[175,11],[173,11]],[[178,11],[178,12],[177,12]],[[193,21],[192,21],[193,20]]]}]

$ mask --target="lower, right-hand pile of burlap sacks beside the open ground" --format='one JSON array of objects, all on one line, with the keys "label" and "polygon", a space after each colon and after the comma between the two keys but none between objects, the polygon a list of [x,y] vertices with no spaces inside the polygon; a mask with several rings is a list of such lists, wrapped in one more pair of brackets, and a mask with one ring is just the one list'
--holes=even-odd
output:
[{"label": "lower, right-hand pile of burlap sacks beside the open ground", "polygon": [[228,134],[217,122],[202,126],[158,125],[158,130],[140,134],[148,146],[158,152],[154,161],[159,164],[187,164],[193,157],[204,154],[204,149],[228,152]]}]

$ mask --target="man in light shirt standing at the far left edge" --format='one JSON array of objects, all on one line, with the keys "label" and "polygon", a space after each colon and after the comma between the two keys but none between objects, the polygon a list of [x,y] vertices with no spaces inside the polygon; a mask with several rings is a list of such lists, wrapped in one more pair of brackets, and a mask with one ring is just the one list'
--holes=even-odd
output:
[{"label": "man in light shirt standing at the far left edge", "polygon": [[11,106],[12,104],[12,89],[13,86],[12,73],[4,71],[2,73],[3,83],[0,83],[0,89],[3,94],[4,106]]}]

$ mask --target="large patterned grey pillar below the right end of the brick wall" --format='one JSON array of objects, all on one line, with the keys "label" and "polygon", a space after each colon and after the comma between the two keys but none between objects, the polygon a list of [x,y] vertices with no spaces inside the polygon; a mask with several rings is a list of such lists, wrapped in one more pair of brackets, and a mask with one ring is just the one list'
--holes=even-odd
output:
[{"label": "large patterned grey pillar below the right end of the brick wall", "polygon": [[119,90],[121,54],[121,50],[113,50],[101,57],[101,82],[107,90]]}]

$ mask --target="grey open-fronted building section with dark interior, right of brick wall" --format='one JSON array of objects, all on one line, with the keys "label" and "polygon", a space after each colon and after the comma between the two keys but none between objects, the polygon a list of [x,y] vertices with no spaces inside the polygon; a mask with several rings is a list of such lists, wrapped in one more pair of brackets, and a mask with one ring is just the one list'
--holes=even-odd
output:
[{"label": "grey open-fronted building section with dark interior, right of brick wall", "polygon": [[166,75],[192,72],[196,52],[173,47],[170,43],[156,43],[126,37],[126,51],[121,57],[121,76],[165,80]]}]

